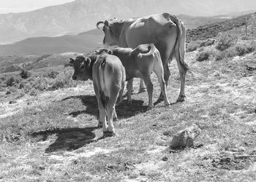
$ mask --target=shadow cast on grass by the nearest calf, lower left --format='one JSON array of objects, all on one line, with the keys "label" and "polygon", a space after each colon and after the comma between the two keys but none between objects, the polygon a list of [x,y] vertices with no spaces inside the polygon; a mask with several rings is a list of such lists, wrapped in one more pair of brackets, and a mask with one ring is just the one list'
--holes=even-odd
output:
[{"label": "shadow cast on grass by the nearest calf, lower left", "polygon": [[42,141],[45,141],[49,135],[56,134],[58,138],[54,143],[50,144],[45,153],[51,153],[53,151],[72,151],[79,149],[86,144],[99,141],[101,138],[96,138],[94,130],[97,127],[86,128],[58,128],[52,127],[46,130],[31,133],[33,138],[42,137]]}]

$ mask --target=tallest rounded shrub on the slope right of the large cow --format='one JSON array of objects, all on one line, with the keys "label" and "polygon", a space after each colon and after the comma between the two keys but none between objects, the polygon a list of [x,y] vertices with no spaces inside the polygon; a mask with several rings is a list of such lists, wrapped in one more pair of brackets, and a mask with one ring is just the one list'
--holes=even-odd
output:
[{"label": "tallest rounded shrub on the slope right of the large cow", "polygon": [[216,45],[216,49],[219,51],[227,50],[229,47],[232,47],[238,41],[237,36],[231,36],[230,34],[223,34],[219,37]]}]

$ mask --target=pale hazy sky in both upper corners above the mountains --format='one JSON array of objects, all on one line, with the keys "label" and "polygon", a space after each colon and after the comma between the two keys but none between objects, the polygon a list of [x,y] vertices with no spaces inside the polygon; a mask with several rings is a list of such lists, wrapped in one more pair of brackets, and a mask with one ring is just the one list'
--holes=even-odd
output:
[{"label": "pale hazy sky in both upper corners above the mountains", "polygon": [[[75,0],[0,0],[0,14],[8,12],[28,12],[42,7],[64,4]],[[94,0],[99,1],[99,0]],[[105,1],[105,0],[101,0]],[[129,1],[129,0],[127,0]],[[140,1],[140,0],[138,0]],[[162,1],[162,0],[158,0]],[[256,0],[170,0],[183,4],[178,14],[219,15],[228,12],[256,10]],[[199,6],[197,6],[199,5]]]}]

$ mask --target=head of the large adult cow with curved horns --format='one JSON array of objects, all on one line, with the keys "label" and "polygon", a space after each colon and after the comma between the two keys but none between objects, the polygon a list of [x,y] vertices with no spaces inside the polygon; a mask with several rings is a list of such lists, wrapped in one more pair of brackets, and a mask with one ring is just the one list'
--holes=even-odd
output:
[{"label": "head of the large adult cow with curved horns", "polygon": [[[103,24],[102,28],[99,28],[100,24]],[[96,26],[97,28],[102,29],[105,34],[103,44],[108,44],[111,46],[118,44],[122,21],[117,21],[116,18],[114,18],[113,20],[99,21]]]}]

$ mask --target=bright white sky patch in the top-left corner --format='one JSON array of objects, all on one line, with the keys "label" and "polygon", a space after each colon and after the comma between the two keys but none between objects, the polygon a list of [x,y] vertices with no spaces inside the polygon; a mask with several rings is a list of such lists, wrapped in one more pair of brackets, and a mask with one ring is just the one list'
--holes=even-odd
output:
[{"label": "bright white sky patch in the top-left corner", "polygon": [[0,14],[28,12],[42,7],[64,4],[75,0],[0,0]]}]

